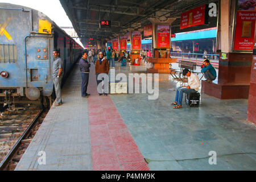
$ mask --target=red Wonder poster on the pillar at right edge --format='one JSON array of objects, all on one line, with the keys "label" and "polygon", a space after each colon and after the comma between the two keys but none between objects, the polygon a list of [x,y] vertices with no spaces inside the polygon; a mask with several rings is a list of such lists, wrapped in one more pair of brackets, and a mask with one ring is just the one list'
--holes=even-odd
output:
[{"label": "red Wonder poster on the pillar at right edge", "polygon": [[237,11],[234,50],[253,50],[256,11]]}]

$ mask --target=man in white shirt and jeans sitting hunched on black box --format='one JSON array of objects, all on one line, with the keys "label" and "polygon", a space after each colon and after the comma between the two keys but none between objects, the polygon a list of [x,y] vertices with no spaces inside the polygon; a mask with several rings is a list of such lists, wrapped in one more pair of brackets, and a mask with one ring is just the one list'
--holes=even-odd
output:
[{"label": "man in white shirt and jeans sitting hunched on black box", "polygon": [[193,73],[191,73],[187,68],[183,69],[183,76],[188,77],[188,86],[180,86],[176,90],[176,96],[175,96],[175,102],[172,102],[171,105],[174,106],[174,109],[180,109],[182,108],[182,98],[183,93],[190,93],[190,92],[196,92],[199,90],[200,87],[200,81],[199,77]]}]

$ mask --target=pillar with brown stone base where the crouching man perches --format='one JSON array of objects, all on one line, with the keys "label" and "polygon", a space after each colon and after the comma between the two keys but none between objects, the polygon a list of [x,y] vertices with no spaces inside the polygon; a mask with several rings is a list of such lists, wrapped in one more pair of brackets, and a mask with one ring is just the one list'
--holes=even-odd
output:
[{"label": "pillar with brown stone base where the crouching man perches", "polygon": [[[220,99],[249,97],[252,54],[232,52],[234,3],[221,0],[221,53],[217,84],[202,81],[202,92]],[[222,59],[222,53],[226,59]]]}]

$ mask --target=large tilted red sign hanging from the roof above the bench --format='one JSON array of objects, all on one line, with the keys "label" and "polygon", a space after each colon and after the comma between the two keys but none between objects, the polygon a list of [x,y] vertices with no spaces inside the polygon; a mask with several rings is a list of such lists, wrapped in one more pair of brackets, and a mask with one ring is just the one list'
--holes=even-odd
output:
[{"label": "large tilted red sign hanging from the roof above the bench", "polygon": [[180,30],[188,27],[199,26],[205,22],[205,5],[186,11],[181,14]]}]

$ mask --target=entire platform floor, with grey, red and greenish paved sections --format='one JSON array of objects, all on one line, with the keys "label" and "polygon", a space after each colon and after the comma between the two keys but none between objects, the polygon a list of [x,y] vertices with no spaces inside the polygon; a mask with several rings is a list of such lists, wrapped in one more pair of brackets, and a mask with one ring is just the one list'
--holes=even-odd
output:
[{"label": "entire platform floor, with grey, red and greenish paved sections", "polygon": [[[115,73],[146,73],[146,66]],[[246,122],[247,100],[201,93],[200,107],[172,109],[181,83],[159,75],[159,98],[148,94],[98,96],[94,65],[89,98],[81,97],[75,66],[63,87],[63,105],[51,107],[15,170],[255,170],[256,127]],[[39,164],[39,151],[46,164]],[[209,164],[210,151],[217,163]]]}]

